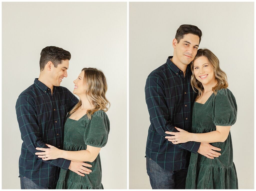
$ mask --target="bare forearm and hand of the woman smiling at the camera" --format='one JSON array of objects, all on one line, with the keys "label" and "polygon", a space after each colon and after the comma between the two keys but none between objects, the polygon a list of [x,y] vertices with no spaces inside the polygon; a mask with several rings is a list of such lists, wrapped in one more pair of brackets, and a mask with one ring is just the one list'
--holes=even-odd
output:
[{"label": "bare forearm and hand of the woman smiling at the camera", "polygon": [[189,133],[183,129],[175,127],[179,132],[165,132],[166,134],[174,136],[166,136],[168,141],[173,144],[184,143],[188,141],[196,142],[224,142],[228,138],[228,134],[231,126],[216,126],[216,131],[208,133]]}]

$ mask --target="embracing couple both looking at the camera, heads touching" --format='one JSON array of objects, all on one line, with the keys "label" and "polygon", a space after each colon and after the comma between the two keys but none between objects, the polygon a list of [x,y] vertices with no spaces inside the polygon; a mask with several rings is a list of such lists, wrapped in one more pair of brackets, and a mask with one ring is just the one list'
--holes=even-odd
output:
[{"label": "embracing couple both looking at the camera, heads touching", "polygon": [[153,189],[238,189],[230,134],[237,104],[217,56],[198,49],[201,36],[198,27],[181,25],[173,56],[146,80]]}]

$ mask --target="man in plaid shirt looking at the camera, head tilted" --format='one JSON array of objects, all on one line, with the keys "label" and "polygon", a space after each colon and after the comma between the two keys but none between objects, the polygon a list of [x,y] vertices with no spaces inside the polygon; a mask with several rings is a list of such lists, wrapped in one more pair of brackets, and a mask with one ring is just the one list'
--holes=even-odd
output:
[{"label": "man in plaid shirt looking at the camera, head tilted", "polygon": [[196,56],[201,30],[193,25],[181,25],[172,45],[173,56],[153,70],[146,80],[145,95],[151,125],[146,145],[147,174],[153,189],[185,189],[190,152],[208,158],[218,157],[219,148],[209,143],[186,142],[172,144],[165,132],[178,132],[174,127],[189,131],[191,106],[197,92],[190,85],[188,65]]}]

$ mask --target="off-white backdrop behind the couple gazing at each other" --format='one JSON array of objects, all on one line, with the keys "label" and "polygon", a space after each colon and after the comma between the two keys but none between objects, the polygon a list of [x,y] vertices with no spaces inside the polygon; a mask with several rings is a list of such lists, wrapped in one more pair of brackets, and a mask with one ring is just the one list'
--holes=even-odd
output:
[{"label": "off-white backdrop behind the couple gazing at each other", "polygon": [[[105,189],[127,185],[127,3],[2,3],[2,188],[20,189],[21,136],[15,104],[39,77],[40,52],[58,46],[71,53],[61,86],[73,91],[84,67],[103,71],[111,102],[108,143],[100,151]],[[117,112],[118,111],[118,112]],[[7,146],[8,145],[8,146]]]}]

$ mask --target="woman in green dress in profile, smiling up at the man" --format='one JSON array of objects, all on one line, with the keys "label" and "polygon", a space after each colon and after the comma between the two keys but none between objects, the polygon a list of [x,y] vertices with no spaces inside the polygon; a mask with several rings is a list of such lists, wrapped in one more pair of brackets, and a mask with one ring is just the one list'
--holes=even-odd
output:
[{"label": "woman in green dress in profile, smiling up at the man", "polygon": [[96,68],[83,68],[73,82],[73,93],[80,100],[65,122],[64,150],[47,145],[49,149],[36,148],[45,151],[36,154],[42,160],[64,158],[92,165],[92,172],[85,176],[61,169],[56,189],[103,189],[99,152],[106,145],[109,134],[109,119],[105,113],[110,104],[105,98],[106,79]]}]

